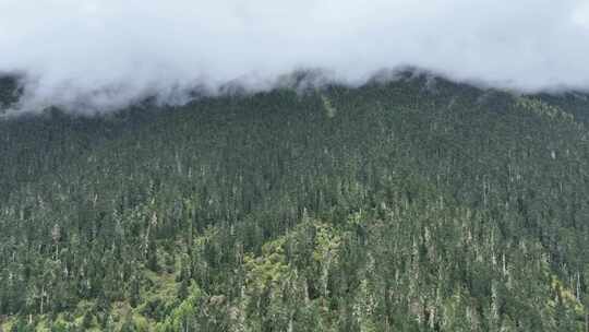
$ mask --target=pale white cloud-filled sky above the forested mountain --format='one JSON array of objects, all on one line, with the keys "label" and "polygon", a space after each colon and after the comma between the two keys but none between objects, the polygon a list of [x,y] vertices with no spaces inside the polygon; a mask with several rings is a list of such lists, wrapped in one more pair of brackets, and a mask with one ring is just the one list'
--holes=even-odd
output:
[{"label": "pale white cloud-filled sky above the forested mountain", "polygon": [[587,90],[588,59],[589,0],[0,0],[0,72],[27,73],[29,106],[265,87],[309,67]]}]

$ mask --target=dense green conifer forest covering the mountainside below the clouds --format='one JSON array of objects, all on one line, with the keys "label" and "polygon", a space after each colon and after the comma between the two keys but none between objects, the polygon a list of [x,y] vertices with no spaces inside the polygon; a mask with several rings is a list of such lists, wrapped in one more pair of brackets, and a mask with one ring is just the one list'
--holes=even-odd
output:
[{"label": "dense green conifer forest covering the mountainside below the clouds", "polygon": [[406,75],[0,120],[0,331],[589,331],[588,119]]}]

